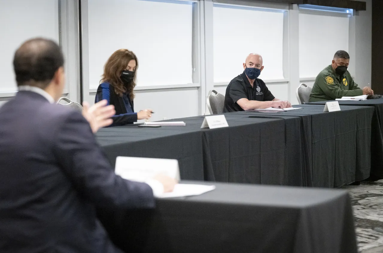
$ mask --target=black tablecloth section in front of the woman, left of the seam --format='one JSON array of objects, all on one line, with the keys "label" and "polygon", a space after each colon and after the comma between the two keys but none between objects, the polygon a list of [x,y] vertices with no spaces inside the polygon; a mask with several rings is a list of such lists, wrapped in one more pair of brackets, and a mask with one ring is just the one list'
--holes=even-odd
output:
[{"label": "black tablecloth section in front of the woman, left of the seam", "polygon": [[129,125],[100,129],[96,138],[113,167],[118,156],[176,159],[182,179],[205,180],[200,129]]}]

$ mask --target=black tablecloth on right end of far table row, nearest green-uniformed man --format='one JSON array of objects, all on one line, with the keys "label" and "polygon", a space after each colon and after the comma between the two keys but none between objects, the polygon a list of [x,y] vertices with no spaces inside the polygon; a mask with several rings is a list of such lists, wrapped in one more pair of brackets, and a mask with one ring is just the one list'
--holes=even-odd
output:
[{"label": "black tablecloth on right end of far table row, nearest green-uniformed man", "polygon": [[238,114],[286,120],[291,116],[301,118],[303,149],[307,154],[304,166],[306,175],[312,175],[309,186],[338,187],[370,176],[372,108],[341,106],[341,111],[324,113],[322,105],[294,107],[303,109]]}]

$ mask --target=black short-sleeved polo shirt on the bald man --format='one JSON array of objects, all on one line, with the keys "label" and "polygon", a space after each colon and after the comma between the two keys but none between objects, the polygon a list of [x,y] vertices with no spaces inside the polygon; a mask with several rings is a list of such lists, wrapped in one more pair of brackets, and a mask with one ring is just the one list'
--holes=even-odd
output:
[{"label": "black short-sleeved polo shirt on the bald man", "polygon": [[231,80],[228,88],[226,88],[223,112],[244,111],[244,109],[237,104],[237,101],[241,98],[257,101],[272,101],[275,97],[268,90],[265,82],[259,78],[255,79],[253,88],[249,80],[247,80],[245,72],[243,72]]}]

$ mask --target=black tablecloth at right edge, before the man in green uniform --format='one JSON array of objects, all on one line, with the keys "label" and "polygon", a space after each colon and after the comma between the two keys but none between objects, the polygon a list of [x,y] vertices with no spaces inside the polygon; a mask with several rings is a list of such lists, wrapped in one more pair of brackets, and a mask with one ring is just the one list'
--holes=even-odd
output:
[{"label": "black tablecloth at right edge, before the man in green uniform", "polygon": [[[335,101],[335,100],[331,100]],[[326,104],[328,101],[309,104]],[[338,101],[341,105],[370,106],[375,108],[371,122],[371,175],[375,179],[383,178],[383,98],[362,101]]]}]

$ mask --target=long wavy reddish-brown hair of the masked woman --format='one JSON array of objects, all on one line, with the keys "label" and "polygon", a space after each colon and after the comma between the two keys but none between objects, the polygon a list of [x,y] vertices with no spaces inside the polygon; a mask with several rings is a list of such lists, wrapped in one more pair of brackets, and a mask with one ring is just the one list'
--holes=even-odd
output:
[{"label": "long wavy reddish-brown hair of the masked woman", "polygon": [[[131,60],[136,61],[136,71],[134,72],[133,81],[126,87],[121,80],[120,76],[123,70]],[[122,96],[123,93],[128,92],[129,98],[134,99],[133,89],[136,87],[138,60],[137,56],[128,49],[119,49],[110,55],[109,59],[104,65],[104,73],[101,77],[101,82],[108,82],[115,89],[115,93],[118,96]]]}]

